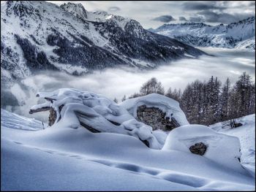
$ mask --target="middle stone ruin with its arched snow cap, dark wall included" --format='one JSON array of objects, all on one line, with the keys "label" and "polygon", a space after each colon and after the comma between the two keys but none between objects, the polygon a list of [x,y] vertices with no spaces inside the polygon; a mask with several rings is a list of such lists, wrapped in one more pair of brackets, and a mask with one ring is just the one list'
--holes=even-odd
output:
[{"label": "middle stone ruin with its arched snow cap, dark wall included", "polygon": [[121,104],[140,122],[151,126],[153,130],[170,131],[178,126],[189,124],[178,101],[157,93],[127,99]]}]

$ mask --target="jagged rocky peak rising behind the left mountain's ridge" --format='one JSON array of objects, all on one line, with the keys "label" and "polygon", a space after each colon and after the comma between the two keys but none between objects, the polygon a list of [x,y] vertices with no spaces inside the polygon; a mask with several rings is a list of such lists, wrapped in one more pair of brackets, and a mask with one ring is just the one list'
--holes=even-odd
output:
[{"label": "jagged rocky peak rising behind the left mountain's ridge", "polygon": [[83,7],[83,4],[74,4],[68,2],[67,4],[61,4],[61,9],[64,9],[67,12],[70,12],[72,15],[75,15],[77,18],[81,18],[83,20],[87,19],[87,11]]}]

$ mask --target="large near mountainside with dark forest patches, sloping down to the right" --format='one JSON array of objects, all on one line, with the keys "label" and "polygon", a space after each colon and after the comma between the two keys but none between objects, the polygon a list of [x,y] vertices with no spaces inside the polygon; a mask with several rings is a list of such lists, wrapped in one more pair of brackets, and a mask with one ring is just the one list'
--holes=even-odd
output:
[{"label": "large near mountainside with dark forest patches, sloping down to the right", "polygon": [[88,12],[82,4],[6,1],[1,4],[1,79],[38,70],[82,74],[118,65],[151,68],[204,54],[145,30],[136,20]]}]

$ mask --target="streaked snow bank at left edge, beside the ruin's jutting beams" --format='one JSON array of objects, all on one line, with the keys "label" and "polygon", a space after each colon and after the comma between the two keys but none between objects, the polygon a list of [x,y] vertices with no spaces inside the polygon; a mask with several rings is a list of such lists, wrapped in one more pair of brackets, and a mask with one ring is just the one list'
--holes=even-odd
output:
[{"label": "streaked snow bank at left edge, beside the ruin's jutting beams", "polygon": [[4,128],[16,128],[29,131],[36,131],[46,127],[46,125],[39,120],[25,118],[3,109],[1,109],[1,126]]}]

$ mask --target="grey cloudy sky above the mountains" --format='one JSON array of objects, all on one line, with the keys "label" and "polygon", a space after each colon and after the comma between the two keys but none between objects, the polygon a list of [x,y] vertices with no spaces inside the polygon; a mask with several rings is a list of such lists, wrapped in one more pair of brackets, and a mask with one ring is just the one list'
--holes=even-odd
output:
[{"label": "grey cloudy sky above the mountains", "polygon": [[[65,1],[51,1],[63,4]],[[255,15],[255,1],[72,1],[88,11],[103,10],[138,20],[144,28],[164,23],[232,23]]]}]

